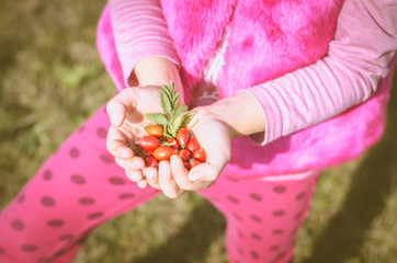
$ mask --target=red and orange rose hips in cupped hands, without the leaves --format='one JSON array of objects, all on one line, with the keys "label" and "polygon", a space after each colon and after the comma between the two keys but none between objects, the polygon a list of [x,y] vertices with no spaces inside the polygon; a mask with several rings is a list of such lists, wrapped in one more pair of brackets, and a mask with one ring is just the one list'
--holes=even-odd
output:
[{"label": "red and orange rose hips in cupped hands, without the leaves", "polygon": [[206,161],[205,150],[186,127],[178,129],[175,138],[163,136],[160,125],[146,126],[145,130],[148,135],[136,139],[138,147],[133,150],[145,159],[147,167],[158,168],[159,161],[170,160],[172,155],[178,155],[188,170]]}]

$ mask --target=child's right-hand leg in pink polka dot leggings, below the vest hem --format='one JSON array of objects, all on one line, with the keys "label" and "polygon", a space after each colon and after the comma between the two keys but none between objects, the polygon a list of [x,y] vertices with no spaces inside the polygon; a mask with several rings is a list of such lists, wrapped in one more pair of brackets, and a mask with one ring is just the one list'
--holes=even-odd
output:
[{"label": "child's right-hand leg in pink polka dot leggings, below the vest hem", "polygon": [[226,216],[231,263],[290,262],[318,172],[261,179],[220,175],[201,191]]}]

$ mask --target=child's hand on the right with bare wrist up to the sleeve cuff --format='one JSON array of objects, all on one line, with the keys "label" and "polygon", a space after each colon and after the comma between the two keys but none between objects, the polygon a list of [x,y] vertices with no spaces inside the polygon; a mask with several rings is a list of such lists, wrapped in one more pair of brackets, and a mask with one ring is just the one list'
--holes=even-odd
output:
[{"label": "child's hand on the right with bare wrist up to the sleeve cuff", "polygon": [[264,132],[262,107],[245,92],[193,111],[196,115],[190,125],[193,125],[192,132],[206,151],[206,162],[188,171],[181,159],[172,156],[169,162],[160,162],[158,171],[145,169],[148,184],[169,197],[208,187],[230,160],[231,139]]}]

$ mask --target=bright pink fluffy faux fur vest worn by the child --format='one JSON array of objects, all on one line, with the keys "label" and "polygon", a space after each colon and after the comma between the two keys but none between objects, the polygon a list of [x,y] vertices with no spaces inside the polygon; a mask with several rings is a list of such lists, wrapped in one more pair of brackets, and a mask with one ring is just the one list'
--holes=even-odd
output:
[{"label": "bright pink fluffy faux fur vest worn by the child", "polygon": [[[230,35],[226,65],[218,78],[220,98],[322,58],[341,4],[342,0],[163,0],[165,18],[181,58],[185,93],[201,79],[226,24]],[[124,88],[107,9],[99,23],[98,47],[117,88]],[[296,173],[356,158],[383,133],[389,87],[390,78],[384,79],[365,103],[264,147],[247,137],[235,139],[226,174],[253,178]]]}]

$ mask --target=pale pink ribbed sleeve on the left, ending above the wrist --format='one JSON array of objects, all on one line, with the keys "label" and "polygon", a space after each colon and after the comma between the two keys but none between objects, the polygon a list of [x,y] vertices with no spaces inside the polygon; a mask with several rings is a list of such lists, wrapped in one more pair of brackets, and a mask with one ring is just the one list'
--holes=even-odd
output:
[{"label": "pale pink ribbed sleeve on the left, ending above the wrist", "polygon": [[165,57],[179,65],[159,0],[109,0],[115,45],[125,83],[135,82],[133,69],[145,57]]}]

